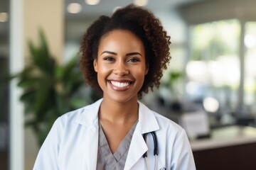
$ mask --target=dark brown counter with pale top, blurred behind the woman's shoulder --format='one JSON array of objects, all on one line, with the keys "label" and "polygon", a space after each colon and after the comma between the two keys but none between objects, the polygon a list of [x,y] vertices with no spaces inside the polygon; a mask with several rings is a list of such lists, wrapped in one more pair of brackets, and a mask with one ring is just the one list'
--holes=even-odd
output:
[{"label": "dark brown counter with pale top, blurred behind the woman's shoulder", "polygon": [[191,148],[197,170],[256,169],[256,128],[218,128],[210,138],[192,140]]}]

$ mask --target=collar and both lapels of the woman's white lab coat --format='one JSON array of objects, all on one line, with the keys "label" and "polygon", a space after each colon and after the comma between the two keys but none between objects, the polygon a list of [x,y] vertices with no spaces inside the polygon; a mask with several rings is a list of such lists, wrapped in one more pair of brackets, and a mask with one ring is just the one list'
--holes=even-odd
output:
[{"label": "collar and both lapels of the woman's white lab coat", "polygon": [[[82,113],[80,113],[80,116],[78,116],[78,123],[80,123],[81,125],[85,125],[91,129],[90,137],[88,137],[88,139],[94,139],[96,136],[98,136],[98,111],[101,103],[102,99],[96,101],[90,106],[85,106],[85,108],[82,108]],[[157,123],[154,112],[149,110],[149,108],[147,108],[143,103],[139,101],[138,103],[139,121],[137,127],[134,130],[134,135],[132,137],[132,141],[129,147],[124,170],[132,169],[132,166],[134,166],[134,164],[142,164],[142,162],[139,162],[139,159],[141,159],[142,155],[148,150],[142,134],[159,130],[159,124]],[[97,153],[97,142],[88,141],[88,145],[90,146],[88,146],[87,148],[90,147],[93,152]],[[88,154],[87,157],[90,157],[90,154]],[[87,162],[87,164],[90,164],[90,167],[96,167],[97,154],[95,155],[95,159],[95,162]]]}]

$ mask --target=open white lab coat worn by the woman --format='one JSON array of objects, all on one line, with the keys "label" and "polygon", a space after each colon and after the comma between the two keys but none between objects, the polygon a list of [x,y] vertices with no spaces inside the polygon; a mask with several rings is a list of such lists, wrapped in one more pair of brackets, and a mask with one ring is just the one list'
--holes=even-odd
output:
[{"label": "open white lab coat worn by the woman", "polygon": [[[92,170],[97,166],[98,111],[102,99],[58,118],[43,143],[33,170]],[[186,132],[171,120],[139,102],[139,122],[129,147],[124,170],[146,169],[142,155],[148,151],[154,169],[154,142],[143,133],[155,131],[159,147],[157,169],[196,169]]]}]

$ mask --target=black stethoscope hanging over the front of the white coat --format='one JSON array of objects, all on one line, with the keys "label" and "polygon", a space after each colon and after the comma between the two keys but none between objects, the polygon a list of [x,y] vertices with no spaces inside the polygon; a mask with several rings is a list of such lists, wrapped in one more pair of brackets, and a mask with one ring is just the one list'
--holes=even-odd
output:
[{"label": "black stethoscope hanging over the front of the white coat", "polygon": [[[158,150],[158,145],[157,145],[157,137],[156,137],[156,132],[147,132],[147,133],[144,133],[142,136],[143,136],[143,139],[144,141],[146,142],[146,136],[148,134],[151,134],[152,138],[153,138],[153,141],[154,141],[154,158],[155,158],[155,161],[154,161],[154,169],[156,170],[156,166],[157,166],[157,157],[158,157],[158,154],[159,154],[159,150]],[[147,161],[147,152],[145,152],[143,154],[143,157],[144,157],[144,160],[145,160],[145,164],[146,164],[146,169],[149,169],[149,163]]]}]

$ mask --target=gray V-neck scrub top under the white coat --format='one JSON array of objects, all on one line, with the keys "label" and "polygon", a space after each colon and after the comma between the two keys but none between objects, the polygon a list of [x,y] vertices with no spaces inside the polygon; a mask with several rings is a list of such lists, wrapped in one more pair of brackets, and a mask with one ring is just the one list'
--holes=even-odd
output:
[{"label": "gray V-neck scrub top under the white coat", "polygon": [[124,137],[122,142],[119,144],[117,151],[112,154],[110,146],[107,143],[107,138],[99,125],[99,146],[97,154],[97,170],[119,170],[124,169],[124,165],[127,159],[129,145],[132,140],[132,135],[136,128],[138,120],[132,126],[131,130]]}]

